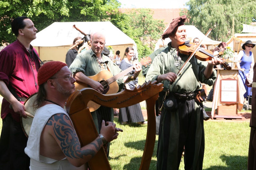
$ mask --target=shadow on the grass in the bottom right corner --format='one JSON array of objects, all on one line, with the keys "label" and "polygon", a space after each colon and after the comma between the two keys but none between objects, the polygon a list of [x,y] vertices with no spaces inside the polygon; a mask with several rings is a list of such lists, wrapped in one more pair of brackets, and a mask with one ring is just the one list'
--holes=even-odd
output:
[{"label": "shadow on the grass in the bottom right corner", "polygon": [[248,156],[221,155],[227,166],[211,166],[205,170],[246,170]]}]

